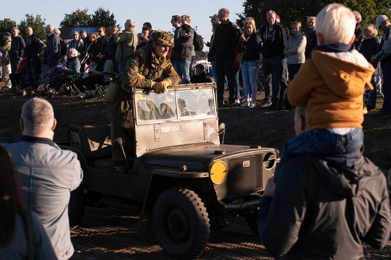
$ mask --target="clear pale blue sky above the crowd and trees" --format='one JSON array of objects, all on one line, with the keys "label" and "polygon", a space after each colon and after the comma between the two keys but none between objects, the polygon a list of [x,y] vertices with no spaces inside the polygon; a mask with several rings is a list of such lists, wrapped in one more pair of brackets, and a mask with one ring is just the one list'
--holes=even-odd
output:
[{"label": "clear pale blue sky above the crowd and trees", "polygon": [[[53,6],[55,3],[55,6]],[[46,24],[53,24],[54,28],[60,26],[65,14],[88,8],[88,14],[93,14],[102,6],[114,14],[117,24],[124,28],[127,19],[136,22],[136,32],[141,32],[144,22],[152,23],[152,29],[172,31],[171,17],[173,15],[189,15],[190,25],[197,26],[197,34],[204,38],[204,42],[210,41],[212,25],[209,16],[218,12],[222,7],[229,10],[229,19],[235,22],[238,19],[236,13],[243,12],[242,0],[79,0],[79,1],[53,1],[53,0],[19,0],[16,4],[3,4],[0,8],[0,20],[10,18],[20,23],[25,19],[25,14],[41,15],[46,19]],[[208,48],[204,47],[204,51]]]}]

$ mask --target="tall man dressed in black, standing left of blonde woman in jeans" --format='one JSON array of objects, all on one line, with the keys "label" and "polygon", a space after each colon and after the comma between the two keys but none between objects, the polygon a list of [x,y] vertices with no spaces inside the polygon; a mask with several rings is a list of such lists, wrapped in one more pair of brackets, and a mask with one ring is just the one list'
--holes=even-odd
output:
[{"label": "tall man dressed in black, standing left of blonde woman in jeans", "polygon": [[216,57],[217,105],[224,105],[225,77],[228,81],[229,98],[227,106],[235,105],[234,63],[235,48],[239,43],[237,25],[229,20],[227,8],[221,8],[217,13],[220,24],[216,28],[213,39],[212,56]]}]

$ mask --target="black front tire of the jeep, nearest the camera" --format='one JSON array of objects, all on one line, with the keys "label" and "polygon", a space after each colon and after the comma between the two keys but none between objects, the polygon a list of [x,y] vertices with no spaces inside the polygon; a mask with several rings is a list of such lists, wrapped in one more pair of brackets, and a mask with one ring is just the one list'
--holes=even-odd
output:
[{"label": "black front tire of the jeep, nearest the camera", "polygon": [[185,188],[174,187],[160,194],[153,210],[153,227],[160,246],[172,258],[197,258],[209,241],[204,203]]}]

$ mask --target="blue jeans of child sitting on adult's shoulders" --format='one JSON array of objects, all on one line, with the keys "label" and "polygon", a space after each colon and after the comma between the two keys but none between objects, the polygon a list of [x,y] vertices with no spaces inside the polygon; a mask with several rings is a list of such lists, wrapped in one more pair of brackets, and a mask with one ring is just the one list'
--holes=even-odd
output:
[{"label": "blue jeans of child sitting on adult's shoulders", "polygon": [[364,132],[361,128],[354,128],[346,135],[335,134],[327,129],[305,131],[285,143],[273,180],[277,181],[282,165],[297,155],[350,154],[361,148],[363,140]]}]

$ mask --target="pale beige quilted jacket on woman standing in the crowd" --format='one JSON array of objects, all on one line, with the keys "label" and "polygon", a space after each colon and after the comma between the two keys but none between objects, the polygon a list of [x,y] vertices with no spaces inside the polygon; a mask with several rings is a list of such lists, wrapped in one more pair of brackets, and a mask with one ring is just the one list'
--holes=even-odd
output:
[{"label": "pale beige quilted jacket on woman standing in the crowd", "polygon": [[306,37],[298,33],[289,37],[284,48],[284,55],[288,57],[288,64],[299,64],[305,62]]}]

